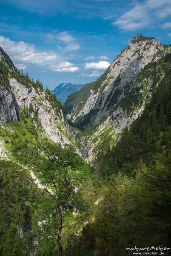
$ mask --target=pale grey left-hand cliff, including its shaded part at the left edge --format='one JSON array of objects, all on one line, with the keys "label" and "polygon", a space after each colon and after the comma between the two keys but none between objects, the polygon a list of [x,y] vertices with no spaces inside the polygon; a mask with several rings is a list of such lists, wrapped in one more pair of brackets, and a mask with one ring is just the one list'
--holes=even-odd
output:
[{"label": "pale grey left-hand cliff, including its shaded part at the left edge", "polygon": [[[27,88],[16,79],[9,78],[10,87],[0,87],[0,124],[18,122],[20,108],[32,104],[38,119],[46,132],[46,137],[55,143],[74,143],[75,134],[65,119],[62,109],[56,111],[48,101],[45,91]],[[32,114],[33,116],[33,114]]]}]

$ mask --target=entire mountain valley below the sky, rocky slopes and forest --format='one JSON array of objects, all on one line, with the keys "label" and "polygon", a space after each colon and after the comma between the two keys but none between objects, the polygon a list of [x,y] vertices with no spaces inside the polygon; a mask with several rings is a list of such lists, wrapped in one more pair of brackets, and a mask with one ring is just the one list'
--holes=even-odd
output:
[{"label": "entire mountain valley below the sky, rocky slopes and forest", "polygon": [[0,48],[0,255],[171,246],[170,146],[171,45],[137,34],[99,79],[52,93]]}]

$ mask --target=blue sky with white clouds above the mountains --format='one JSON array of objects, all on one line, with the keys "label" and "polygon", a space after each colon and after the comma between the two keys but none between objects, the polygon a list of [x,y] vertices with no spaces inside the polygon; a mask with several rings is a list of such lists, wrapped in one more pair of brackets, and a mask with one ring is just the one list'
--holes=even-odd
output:
[{"label": "blue sky with white clouds above the mountains", "polygon": [[1,0],[0,46],[44,87],[85,84],[136,34],[171,44],[171,0]]}]

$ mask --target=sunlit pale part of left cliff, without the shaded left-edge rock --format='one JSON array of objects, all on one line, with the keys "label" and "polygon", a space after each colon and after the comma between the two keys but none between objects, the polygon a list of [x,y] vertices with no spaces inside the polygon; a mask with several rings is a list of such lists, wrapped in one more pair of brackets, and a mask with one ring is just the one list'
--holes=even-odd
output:
[{"label": "sunlit pale part of left cliff, without the shaded left-edge rock", "polygon": [[[9,79],[9,83],[11,93],[14,95],[17,105],[21,108],[24,105],[29,107],[30,103],[33,105],[42,127],[51,140],[55,143],[60,142],[61,144],[71,143],[68,137],[74,137],[74,134],[64,118],[63,111],[59,110],[58,113],[55,112],[50,102],[46,99],[44,91],[38,93],[33,87],[27,88],[14,78]],[[12,119],[12,121],[15,120]]]}]

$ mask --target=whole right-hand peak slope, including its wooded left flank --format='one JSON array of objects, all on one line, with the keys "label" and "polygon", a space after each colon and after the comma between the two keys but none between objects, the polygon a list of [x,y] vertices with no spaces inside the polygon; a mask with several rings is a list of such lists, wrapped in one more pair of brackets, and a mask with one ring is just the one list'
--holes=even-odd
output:
[{"label": "whole right-hand peak slope, including its wooded left flank", "polygon": [[171,51],[156,38],[136,35],[105,73],[71,94],[64,104],[65,113],[79,128],[95,125],[128,93],[132,80],[151,61]]}]

